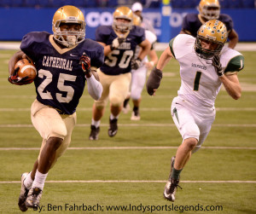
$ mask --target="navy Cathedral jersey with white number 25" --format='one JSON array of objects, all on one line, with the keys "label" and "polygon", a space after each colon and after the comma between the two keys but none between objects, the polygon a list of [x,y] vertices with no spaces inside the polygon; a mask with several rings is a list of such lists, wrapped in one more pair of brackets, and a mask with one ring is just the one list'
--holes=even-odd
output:
[{"label": "navy Cathedral jersey with white number 25", "polygon": [[102,45],[85,38],[73,48],[61,49],[49,32],[29,32],[20,49],[34,61],[38,74],[34,80],[37,99],[60,112],[76,111],[84,91],[85,76],[79,65],[83,53],[90,57],[91,67],[101,67],[104,60]]}]

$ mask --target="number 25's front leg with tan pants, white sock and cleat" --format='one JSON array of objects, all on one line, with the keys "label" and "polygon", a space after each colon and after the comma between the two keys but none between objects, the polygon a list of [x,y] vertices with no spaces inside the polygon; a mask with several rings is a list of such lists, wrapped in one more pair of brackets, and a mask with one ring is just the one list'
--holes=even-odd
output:
[{"label": "number 25's front leg with tan pants, white sock and cleat", "polygon": [[38,101],[32,104],[32,124],[45,139],[38,156],[38,170],[26,198],[26,206],[37,209],[45,179],[55,160],[56,150],[67,136],[67,128],[54,108],[44,106]]}]

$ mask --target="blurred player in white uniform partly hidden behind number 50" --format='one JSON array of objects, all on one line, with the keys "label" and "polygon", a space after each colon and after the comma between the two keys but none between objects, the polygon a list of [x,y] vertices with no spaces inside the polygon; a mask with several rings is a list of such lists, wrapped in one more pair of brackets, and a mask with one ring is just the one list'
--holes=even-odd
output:
[{"label": "blurred player in white uniform partly hidden behind number 50", "polygon": [[[139,16],[134,14],[133,16],[133,24],[135,26],[141,26],[142,20]],[[148,57],[146,56],[143,61],[141,67],[139,67],[137,70],[131,70],[131,93],[129,93],[128,97],[124,101],[124,107],[123,112],[128,113],[130,109],[129,101],[130,97],[133,102],[133,108],[131,113],[131,120],[140,120],[140,112],[139,112],[139,106],[140,102],[142,101],[142,92],[144,84],[146,83],[147,78],[147,71],[148,69],[152,69],[157,61],[158,56],[156,55],[156,52],[154,50],[154,43],[156,42],[156,36],[153,32],[150,32],[148,30],[145,30],[145,36],[148,39],[149,43],[151,43],[151,49],[148,53],[148,56],[150,58],[150,61],[148,61]],[[136,54],[138,55],[140,51],[140,47],[137,46]]]}]

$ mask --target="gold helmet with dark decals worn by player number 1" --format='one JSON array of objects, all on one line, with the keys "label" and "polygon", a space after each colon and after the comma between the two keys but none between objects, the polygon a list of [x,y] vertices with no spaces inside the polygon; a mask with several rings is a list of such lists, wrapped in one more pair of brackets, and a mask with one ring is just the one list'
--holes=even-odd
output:
[{"label": "gold helmet with dark decals worn by player number 1", "polygon": [[[196,36],[195,52],[203,59],[211,59],[214,55],[218,55],[227,41],[228,32],[223,22],[220,20],[208,20],[203,24]],[[201,47],[201,41],[213,43],[215,49],[204,49]]]}]

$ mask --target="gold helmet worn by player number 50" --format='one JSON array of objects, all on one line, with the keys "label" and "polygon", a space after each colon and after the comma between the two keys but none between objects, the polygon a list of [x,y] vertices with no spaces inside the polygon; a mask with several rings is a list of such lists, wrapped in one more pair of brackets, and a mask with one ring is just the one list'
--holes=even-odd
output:
[{"label": "gold helmet worn by player number 50", "polygon": [[[128,23],[119,21],[118,19],[129,20]],[[119,32],[128,32],[132,28],[133,14],[128,7],[119,7],[113,12],[113,29]]]}]

